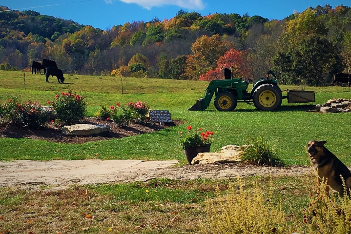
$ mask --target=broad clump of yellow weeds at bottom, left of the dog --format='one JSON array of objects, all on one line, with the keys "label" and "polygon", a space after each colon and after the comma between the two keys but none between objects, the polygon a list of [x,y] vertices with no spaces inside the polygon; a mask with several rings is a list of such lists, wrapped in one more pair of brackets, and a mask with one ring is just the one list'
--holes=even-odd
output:
[{"label": "broad clump of yellow weeds at bottom, left of the dog", "polygon": [[[239,187],[239,191],[237,191]],[[257,182],[252,189],[245,188],[238,177],[226,195],[218,191],[217,197],[206,201],[206,234],[292,234],[296,227],[294,217],[287,215],[281,205],[271,202],[273,182],[268,194],[264,194]]]}]

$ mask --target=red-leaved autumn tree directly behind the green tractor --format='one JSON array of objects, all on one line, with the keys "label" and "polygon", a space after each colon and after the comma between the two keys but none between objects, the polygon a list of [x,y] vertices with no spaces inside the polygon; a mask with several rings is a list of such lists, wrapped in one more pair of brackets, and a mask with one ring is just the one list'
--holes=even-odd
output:
[{"label": "red-leaved autumn tree directly behind the green tractor", "polygon": [[223,56],[217,60],[217,67],[202,74],[199,80],[211,81],[215,79],[223,79],[223,69],[232,68],[233,77],[248,77],[249,70],[247,67],[247,52],[238,51],[231,48]]}]

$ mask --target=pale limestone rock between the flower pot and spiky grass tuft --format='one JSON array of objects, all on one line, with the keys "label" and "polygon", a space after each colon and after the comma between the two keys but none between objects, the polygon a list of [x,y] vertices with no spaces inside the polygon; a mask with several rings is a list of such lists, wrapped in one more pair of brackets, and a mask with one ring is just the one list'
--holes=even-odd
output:
[{"label": "pale limestone rock between the flower pot and spiky grass tuft", "polygon": [[240,161],[240,155],[247,145],[226,145],[220,152],[216,153],[199,153],[192,159],[191,164],[206,163],[230,163]]}]

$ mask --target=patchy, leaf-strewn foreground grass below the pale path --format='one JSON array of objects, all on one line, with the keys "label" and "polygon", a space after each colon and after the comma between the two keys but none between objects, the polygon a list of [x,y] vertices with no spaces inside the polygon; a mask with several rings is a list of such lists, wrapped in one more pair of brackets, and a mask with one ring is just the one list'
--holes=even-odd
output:
[{"label": "patchy, leaf-strewn foreground grass below the pale path", "polygon": [[[275,177],[271,203],[302,220],[309,198],[306,177]],[[115,185],[0,188],[0,232],[10,233],[200,233],[205,200],[225,195],[232,180],[154,179]],[[245,188],[259,182],[269,195],[268,177],[243,178]],[[237,191],[237,189],[235,189]],[[82,229],[89,228],[88,231]]]}]

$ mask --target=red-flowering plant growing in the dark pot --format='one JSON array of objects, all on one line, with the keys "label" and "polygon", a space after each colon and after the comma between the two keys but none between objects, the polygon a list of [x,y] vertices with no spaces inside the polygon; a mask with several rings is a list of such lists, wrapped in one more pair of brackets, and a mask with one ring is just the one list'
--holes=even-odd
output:
[{"label": "red-flowering plant growing in the dark pot", "polygon": [[[180,146],[185,149],[186,147],[200,147],[211,144],[213,141],[213,132],[203,131],[201,128],[193,129],[187,126],[187,135],[181,139]],[[180,134],[183,134],[180,132]]]}]

